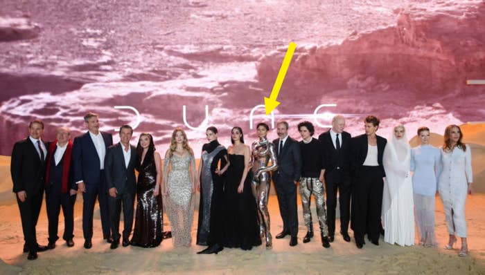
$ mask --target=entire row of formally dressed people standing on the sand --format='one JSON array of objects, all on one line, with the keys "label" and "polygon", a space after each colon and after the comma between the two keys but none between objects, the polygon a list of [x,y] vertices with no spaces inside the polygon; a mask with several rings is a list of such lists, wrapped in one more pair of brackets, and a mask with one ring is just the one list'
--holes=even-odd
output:
[{"label": "entire row of formally dressed people standing on the sand", "polygon": [[[400,245],[414,242],[414,228],[406,231],[406,228],[414,227],[413,204],[409,204],[412,198],[407,198],[413,190],[408,188],[411,182],[409,171],[417,167],[413,175],[413,178],[416,178],[415,186],[421,177],[419,171],[425,171],[427,174],[430,171],[423,168],[425,164],[429,165],[429,162],[421,164],[418,158],[411,158],[404,126],[396,127],[392,141],[386,144],[384,138],[376,135],[379,126],[377,117],[366,117],[366,133],[351,138],[351,135],[344,131],[344,117],[337,115],[333,118],[332,129],[322,133],[318,140],[312,138],[315,129],[310,122],[301,122],[298,125],[303,139],[301,142],[288,136],[287,122],[279,122],[279,138],[269,142],[269,126],[260,123],[257,126],[258,140],[252,144],[251,149],[244,144],[242,129],[234,127],[231,130],[232,145],[227,150],[217,141],[217,129],[209,127],[206,131],[209,143],[204,144],[202,148],[198,169],[195,167],[194,154],[188,145],[185,132],[175,129],[170,148],[164,158],[162,176],[161,158],[155,151],[150,134],[142,133],[135,148],[130,145],[132,129],[124,125],[119,131],[121,142],[112,146],[112,136],[99,131],[96,114],[87,114],[85,122],[87,133],[77,137],[74,142],[69,139],[69,129],[61,127],[57,132],[57,140],[49,144],[44,144],[40,140],[44,129],[42,122],[31,122],[30,137],[17,142],[14,146],[12,181],[14,192],[17,193],[26,240],[24,252],[29,252],[28,258],[37,258],[37,251],[55,247],[61,207],[66,222],[63,238],[69,247],[73,246],[73,205],[76,201],[76,189],[83,194],[82,228],[87,249],[91,247],[93,236],[92,219],[96,198],[100,204],[103,238],[112,243],[113,249],[118,247],[121,239],[121,234],[118,233],[121,208],[125,220],[123,246],[130,243],[142,247],[159,245],[164,236],[170,236],[170,232],[163,232],[161,195],[164,196],[164,205],[173,229],[174,245],[191,245],[195,189],[199,189],[201,194],[197,244],[208,245],[208,248],[200,253],[217,253],[224,246],[251,249],[255,245],[261,245],[261,237],[265,237],[267,247],[272,247],[270,216],[267,211],[271,174],[283,220],[283,231],[276,238],[290,235],[291,246],[297,245],[298,182],[303,204],[303,220],[307,227],[303,243],[308,243],[313,237],[310,214],[310,196],[313,194],[317,205],[321,242],[324,247],[330,247],[335,238],[337,190],[340,195],[340,233],[344,240],[351,240],[348,234],[351,220],[355,243],[359,248],[364,245],[365,234],[371,243],[378,245],[382,230],[382,214],[382,222],[386,227],[385,241]],[[453,143],[449,141],[453,139],[448,137],[446,144],[450,145],[443,147],[447,148],[443,150],[444,153],[452,153],[455,146],[459,149],[464,148],[466,152],[466,146],[461,142],[461,131],[455,128],[457,126],[453,126],[454,130],[450,130],[450,133],[447,128],[445,138],[458,132],[459,140]],[[426,131],[418,131],[420,137],[422,132]],[[429,129],[427,135],[429,137]],[[421,140],[423,141],[423,138]],[[466,156],[469,157],[469,154],[468,149]],[[466,164],[469,165],[469,161]],[[450,165],[454,167],[453,163]],[[139,171],[137,181],[134,169]],[[471,171],[467,170],[467,177],[470,173]],[[435,171],[434,175],[439,173]],[[382,180],[384,176],[386,184]],[[423,184],[430,185],[430,180],[432,178],[425,178]],[[468,178],[468,182],[472,180]],[[35,239],[35,224],[42,205],[44,183],[49,218],[47,247],[38,245]],[[419,187],[414,189],[419,190]],[[132,240],[129,240],[135,190],[138,198],[136,219]],[[327,196],[327,210],[324,191]],[[26,196],[27,194],[29,196]],[[427,200],[430,197],[429,190],[426,194],[426,198],[415,194],[414,200],[423,201],[416,206],[416,222],[426,220],[426,225],[420,227],[418,224],[418,229],[421,234],[420,240],[429,245],[434,241],[430,229],[431,202]],[[457,215],[458,218],[463,218],[461,212],[464,209],[464,200],[463,203],[457,203],[455,199],[457,198],[448,198],[451,206],[446,211],[447,222],[456,222]],[[409,205],[411,211],[408,211]],[[425,207],[422,207],[423,205]],[[460,206],[461,209],[457,209]],[[434,203],[432,207],[433,212]],[[421,209],[421,212],[418,212],[418,209]],[[434,214],[432,220],[434,224]],[[454,227],[449,226],[448,229],[452,230]],[[407,235],[403,237],[401,231],[405,231]],[[461,254],[466,255],[466,225],[464,231],[464,234],[461,231],[458,236],[461,236],[462,243],[464,242]],[[455,240],[454,231],[450,231],[450,242],[447,247],[451,248]]]}]

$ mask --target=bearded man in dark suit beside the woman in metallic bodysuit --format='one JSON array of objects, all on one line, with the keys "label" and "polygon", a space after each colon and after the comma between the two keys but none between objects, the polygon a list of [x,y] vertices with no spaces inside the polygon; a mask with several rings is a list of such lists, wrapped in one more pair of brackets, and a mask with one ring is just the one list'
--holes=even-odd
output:
[{"label": "bearded man in dark suit beside the woman in metallic bodysuit", "polygon": [[297,184],[301,176],[301,153],[296,140],[288,136],[288,122],[278,122],[279,138],[273,140],[276,147],[278,170],[274,177],[274,189],[279,211],[283,219],[283,231],[276,238],[290,235],[290,246],[298,244]]}]

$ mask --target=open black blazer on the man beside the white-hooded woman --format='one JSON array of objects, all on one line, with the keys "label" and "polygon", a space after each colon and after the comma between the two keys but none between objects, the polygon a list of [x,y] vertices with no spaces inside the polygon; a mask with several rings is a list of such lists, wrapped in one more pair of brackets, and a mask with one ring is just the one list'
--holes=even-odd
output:
[{"label": "open black blazer on the man beside the white-hooded woman", "polygon": [[[384,148],[387,144],[387,140],[382,138],[380,135],[376,135],[377,138],[377,161],[379,164],[379,168],[381,171],[381,176],[385,177],[386,173],[384,171],[384,167],[382,166],[382,155],[384,154]],[[356,173],[358,169],[364,164],[365,158],[367,157],[367,135],[358,135],[355,138],[352,138],[352,155],[353,155],[353,163],[352,163],[352,170],[353,173]]]}]

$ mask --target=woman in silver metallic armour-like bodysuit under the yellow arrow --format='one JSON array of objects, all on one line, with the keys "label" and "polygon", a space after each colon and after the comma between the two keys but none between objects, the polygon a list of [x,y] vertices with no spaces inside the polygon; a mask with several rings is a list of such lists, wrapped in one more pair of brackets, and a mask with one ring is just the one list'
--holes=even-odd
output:
[{"label": "woman in silver metallic armour-like bodysuit under the yellow arrow", "polygon": [[[267,131],[270,126],[261,122],[256,127],[259,139],[253,142],[251,150],[251,166],[254,178],[252,179],[253,196],[258,205],[258,217],[261,237],[266,238],[266,247],[272,247],[272,236],[270,232],[270,213],[267,210],[267,196],[270,192],[271,175],[270,171],[278,169],[276,163],[276,151],[272,142],[267,140]],[[269,166],[271,160],[271,166]]]}]

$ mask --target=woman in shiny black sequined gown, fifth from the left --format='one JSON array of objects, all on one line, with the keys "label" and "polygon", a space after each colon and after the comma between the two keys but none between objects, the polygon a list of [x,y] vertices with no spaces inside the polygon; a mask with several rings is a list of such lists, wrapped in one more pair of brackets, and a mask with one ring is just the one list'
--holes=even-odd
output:
[{"label": "woman in shiny black sequined gown, fifth from the left", "polygon": [[155,152],[152,135],[142,133],[138,146],[139,171],[136,184],[136,217],[132,245],[157,247],[164,237],[163,209],[161,204],[161,160]]}]

